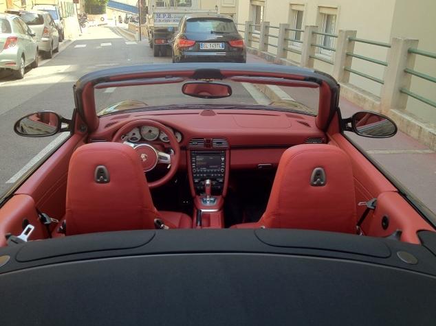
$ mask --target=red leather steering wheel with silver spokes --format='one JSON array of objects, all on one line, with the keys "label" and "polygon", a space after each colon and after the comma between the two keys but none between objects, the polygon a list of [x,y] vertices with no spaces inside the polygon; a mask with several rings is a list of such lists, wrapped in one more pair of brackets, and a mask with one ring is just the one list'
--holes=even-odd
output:
[{"label": "red leather steering wheel with silver spokes", "polygon": [[[171,148],[173,150],[172,153],[166,154],[166,152],[160,152],[148,143],[130,143],[129,141],[124,141],[124,139],[122,139],[122,136],[127,134],[127,132],[131,131],[133,128],[140,126],[152,126],[165,132],[165,134],[168,136]],[[165,176],[163,176],[159,180],[149,183],[149,188],[156,188],[164,185],[165,183],[170,181],[171,178],[173,178],[173,176],[175,175],[175,172],[177,172],[180,161],[179,143],[177,142],[177,139],[175,138],[173,132],[171,132],[171,130],[166,128],[166,126],[164,126],[160,122],[147,119],[131,121],[122,126],[116,132],[116,134],[113,136],[112,141],[118,143],[122,142],[130,145],[138,153],[138,158],[141,161],[144,172],[149,172],[153,170],[157,164],[168,165],[168,172],[165,174]]]}]

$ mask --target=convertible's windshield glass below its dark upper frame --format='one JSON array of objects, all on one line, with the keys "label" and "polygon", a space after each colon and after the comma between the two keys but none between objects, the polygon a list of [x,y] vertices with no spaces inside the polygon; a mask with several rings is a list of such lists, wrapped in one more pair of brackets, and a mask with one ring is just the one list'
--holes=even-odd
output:
[{"label": "convertible's windshield glass below its dark upper frame", "polygon": [[[159,80],[160,81],[160,80]],[[156,107],[193,108],[202,106],[215,108],[259,108],[289,110],[308,115],[318,113],[319,91],[317,88],[275,86],[248,82],[224,81],[231,87],[232,95],[224,98],[198,98],[182,93],[182,85],[151,84],[141,86],[109,87],[94,91],[96,111],[99,115],[116,113],[120,110],[147,109]],[[122,103],[122,105],[120,105]]]}]

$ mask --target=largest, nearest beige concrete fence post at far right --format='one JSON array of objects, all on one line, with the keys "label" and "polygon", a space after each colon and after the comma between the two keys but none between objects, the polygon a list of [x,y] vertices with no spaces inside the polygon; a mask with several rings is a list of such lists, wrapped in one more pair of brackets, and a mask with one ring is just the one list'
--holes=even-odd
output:
[{"label": "largest, nearest beige concrete fence post at far right", "polygon": [[408,95],[401,93],[400,89],[409,89],[412,75],[405,73],[404,69],[413,69],[415,54],[409,54],[410,47],[417,47],[419,40],[410,38],[392,38],[391,49],[388,54],[388,67],[384,71],[384,85],[380,93],[380,108],[382,113],[391,109],[405,109]]}]

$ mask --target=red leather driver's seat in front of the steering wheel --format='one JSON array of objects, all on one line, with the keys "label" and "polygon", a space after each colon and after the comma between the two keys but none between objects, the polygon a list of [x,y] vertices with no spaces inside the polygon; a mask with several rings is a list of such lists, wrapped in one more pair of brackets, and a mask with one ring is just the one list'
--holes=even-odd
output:
[{"label": "red leather driver's seat in front of the steering wheel", "polygon": [[[105,179],[96,181],[97,174]],[[107,174],[104,173],[107,170]],[[158,212],[138,154],[122,143],[91,143],[80,146],[69,162],[66,233],[155,229],[161,218],[170,228],[191,228],[189,216]]]}]

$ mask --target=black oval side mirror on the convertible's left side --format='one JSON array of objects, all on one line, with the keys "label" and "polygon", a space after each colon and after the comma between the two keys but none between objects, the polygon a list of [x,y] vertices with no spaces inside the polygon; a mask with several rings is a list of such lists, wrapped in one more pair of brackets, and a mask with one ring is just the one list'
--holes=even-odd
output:
[{"label": "black oval side mirror on the convertible's left side", "polygon": [[41,111],[19,119],[14,125],[14,132],[23,137],[48,137],[69,131],[70,122],[52,111]]}]

